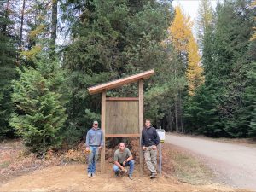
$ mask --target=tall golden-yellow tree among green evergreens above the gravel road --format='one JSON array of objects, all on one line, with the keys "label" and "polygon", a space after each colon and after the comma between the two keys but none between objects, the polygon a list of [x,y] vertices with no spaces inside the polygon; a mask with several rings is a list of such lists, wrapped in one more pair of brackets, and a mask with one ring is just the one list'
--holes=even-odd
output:
[{"label": "tall golden-yellow tree among green evergreens above the gravel road", "polygon": [[202,76],[203,69],[200,66],[201,57],[192,33],[192,26],[193,23],[190,18],[184,15],[182,9],[177,6],[174,20],[169,27],[169,39],[185,62],[190,96],[195,94],[195,89],[203,83],[204,79]]}]

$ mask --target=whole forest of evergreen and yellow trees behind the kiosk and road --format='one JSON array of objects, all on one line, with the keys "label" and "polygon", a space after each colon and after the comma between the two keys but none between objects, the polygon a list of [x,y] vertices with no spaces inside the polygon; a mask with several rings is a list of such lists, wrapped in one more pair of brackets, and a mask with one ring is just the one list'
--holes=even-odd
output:
[{"label": "whole forest of evergreen and yellow trees behind the kiosk and road", "polygon": [[[72,146],[100,120],[88,87],[151,68],[144,116],[155,126],[255,137],[255,26],[249,0],[201,0],[195,22],[167,0],[3,0],[0,137],[38,154]],[[108,96],[137,96],[137,84]]]}]

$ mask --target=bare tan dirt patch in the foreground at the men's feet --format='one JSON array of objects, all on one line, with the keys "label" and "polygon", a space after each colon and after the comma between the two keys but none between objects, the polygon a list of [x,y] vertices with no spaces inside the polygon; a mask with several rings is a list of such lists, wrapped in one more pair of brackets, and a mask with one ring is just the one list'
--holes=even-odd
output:
[{"label": "bare tan dirt patch in the foreground at the men's feet", "polygon": [[[111,164],[108,164],[108,170]],[[15,177],[0,186],[0,191],[235,191],[217,185],[195,186],[180,183],[172,177],[150,179],[140,177],[137,170],[134,180],[127,176],[114,177],[113,172],[97,173],[86,177],[85,165],[52,166]]]}]

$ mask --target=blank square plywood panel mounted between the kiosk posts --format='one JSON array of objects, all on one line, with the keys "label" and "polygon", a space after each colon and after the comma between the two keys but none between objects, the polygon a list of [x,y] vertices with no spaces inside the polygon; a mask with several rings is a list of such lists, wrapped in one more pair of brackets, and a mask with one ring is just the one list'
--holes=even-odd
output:
[{"label": "blank square plywood panel mounted between the kiosk posts", "polygon": [[140,133],[138,101],[107,101],[105,132],[106,135]]}]

